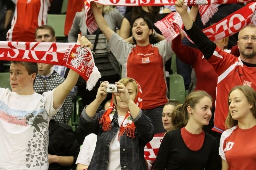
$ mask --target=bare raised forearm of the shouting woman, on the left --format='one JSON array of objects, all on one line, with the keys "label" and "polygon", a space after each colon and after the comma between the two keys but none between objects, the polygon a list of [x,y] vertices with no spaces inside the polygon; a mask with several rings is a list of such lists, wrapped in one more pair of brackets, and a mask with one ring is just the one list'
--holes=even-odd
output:
[{"label": "bare raised forearm of the shouting woman, on the left", "polygon": [[94,18],[97,22],[97,25],[99,26],[101,32],[105,35],[106,39],[109,41],[110,38],[112,37],[114,31],[109,28],[107,21],[105,18],[102,16],[100,13],[100,10],[98,9],[97,5],[95,2],[91,2],[91,9],[92,13],[94,15]]}]

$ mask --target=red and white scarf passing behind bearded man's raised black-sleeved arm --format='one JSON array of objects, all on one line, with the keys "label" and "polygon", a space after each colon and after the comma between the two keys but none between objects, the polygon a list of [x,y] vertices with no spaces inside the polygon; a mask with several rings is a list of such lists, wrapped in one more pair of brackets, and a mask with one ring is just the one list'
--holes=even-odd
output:
[{"label": "red and white scarf passing behind bearded man's raised black-sleeved arm", "polygon": [[[209,26],[202,31],[212,41],[221,40],[225,37],[239,32],[244,26],[254,24],[256,26],[256,2],[248,4],[216,24]],[[183,23],[180,14],[172,12],[164,19],[157,21],[155,26],[163,33],[167,42],[178,36],[183,30]]]}]

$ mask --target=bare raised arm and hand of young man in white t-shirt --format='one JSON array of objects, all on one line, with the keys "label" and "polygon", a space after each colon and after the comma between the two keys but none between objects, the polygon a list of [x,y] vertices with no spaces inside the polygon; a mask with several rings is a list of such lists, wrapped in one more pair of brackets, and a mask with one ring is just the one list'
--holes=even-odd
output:
[{"label": "bare raised arm and hand of young man in white t-shirt", "polygon": [[[92,48],[92,43],[89,40],[87,40],[84,36],[81,37],[80,34],[78,34],[77,43],[80,43],[81,47]],[[68,93],[76,85],[78,77],[79,77],[79,74],[76,73],[76,71],[70,69],[66,80],[54,89],[53,91],[53,108],[54,109],[58,108],[64,102],[64,100],[68,96]]]}]

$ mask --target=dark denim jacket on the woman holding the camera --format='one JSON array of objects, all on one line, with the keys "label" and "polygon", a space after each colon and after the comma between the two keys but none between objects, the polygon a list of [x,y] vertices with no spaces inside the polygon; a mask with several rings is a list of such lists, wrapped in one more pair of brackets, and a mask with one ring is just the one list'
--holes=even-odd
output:
[{"label": "dark denim jacket on the woman holding the camera", "polygon": [[[111,130],[103,131],[99,120],[105,111],[96,113],[93,118],[89,117],[85,108],[79,118],[81,128],[87,132],[97,135],[97,143],[92,156],[91,163],[88,167],[93,170],[106,170],[109,162],[109,144],[119,130],[117,120],[117,111],[111,122]],[[144,160],[144,147],[154,136],[153,121],[149,119],[141,110],[139,115],[132,119],[135,124],[135,138],[120,136],[120,163],[121,170],[146,170]]]}]

